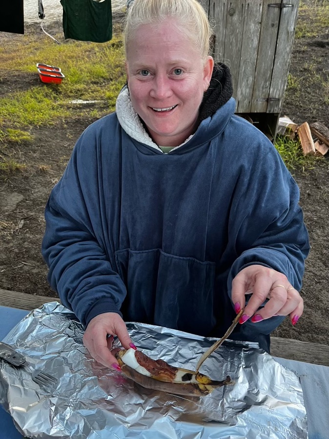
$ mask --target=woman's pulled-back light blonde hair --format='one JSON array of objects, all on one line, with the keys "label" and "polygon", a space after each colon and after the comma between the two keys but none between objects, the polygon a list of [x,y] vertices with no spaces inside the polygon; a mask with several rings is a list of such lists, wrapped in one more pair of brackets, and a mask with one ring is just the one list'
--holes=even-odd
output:
[{"label": "woman's pulled-back light blonde hair", "polygon": [[177,20],[182,33],[206,61],[210,55],[212,29],[204,8],[197,0],[134,0],[128,9],[123,31],[125,54],[139,26],[159,24],[169,17]]}]

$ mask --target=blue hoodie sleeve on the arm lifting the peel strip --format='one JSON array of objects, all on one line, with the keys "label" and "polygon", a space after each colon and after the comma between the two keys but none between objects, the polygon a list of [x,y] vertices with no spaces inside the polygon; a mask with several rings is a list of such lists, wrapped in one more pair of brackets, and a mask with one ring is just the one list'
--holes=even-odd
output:
[{"label": "blue hoodie sleeve on the arm lifting the peel strip", "polygon": [[[229,236],[237,257],[229,272],[228,293],[234,277],[251,264],[285,274],[299,291],[309,252],[299,188],[269,141],[253,157],[241,171],[230,212]],[[283,319],[248,320],[242,327],[269,334]]]}]

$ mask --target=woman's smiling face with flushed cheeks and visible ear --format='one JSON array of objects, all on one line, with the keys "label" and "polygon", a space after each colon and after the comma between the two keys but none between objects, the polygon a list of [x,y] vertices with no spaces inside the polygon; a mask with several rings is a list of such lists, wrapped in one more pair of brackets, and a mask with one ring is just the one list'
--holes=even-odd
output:
[{"label": "woman's smiling face with flushed cheeks and visible ear", "polygon": [[139,26],[128,44],[126,72],[131,102],[160,146],[178,146],[195,130],[211,79],[206,63],[172,19]]}]

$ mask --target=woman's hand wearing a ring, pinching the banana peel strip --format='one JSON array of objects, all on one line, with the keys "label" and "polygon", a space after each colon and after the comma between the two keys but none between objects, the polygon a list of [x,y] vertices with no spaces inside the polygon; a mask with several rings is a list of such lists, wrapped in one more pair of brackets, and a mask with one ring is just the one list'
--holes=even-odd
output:
[{"label": "woman's hand wearing a ring, pinching the banana peel strip", "polygon": [[[251,297],[245,307],[246,294]],[[259,309],[266,299],[269,300],[265,306]],[[249,265],[236,275],[232,281],[232,301],[236,313],[245,307],[240,323],[250,317],[255,323],[273,316],[289,315],[295,325],[304,309],[303,299],[287,277],[263,265]]]}]

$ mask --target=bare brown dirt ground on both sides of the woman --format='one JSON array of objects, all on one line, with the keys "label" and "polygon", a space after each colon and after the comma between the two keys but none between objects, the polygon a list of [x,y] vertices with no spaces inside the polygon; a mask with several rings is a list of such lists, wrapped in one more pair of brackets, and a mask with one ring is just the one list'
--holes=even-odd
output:
[{"label": "bare brown dirt ground on both sides of the woman", "polygon": [[[15,38],[10,36],[11,41]],[[0,36],[0,40],[6,50],[8,36]],[[326,101],[324,91],[306,75],[310,62],[314,74],[328,83],[329,33],[295,41],[290,74],[301,80],[303,86],[287,90],[282,114],[297,123],[321,121],[329,127],[328,96]],[[34,84],[34,75],[22,77],[1,70],[0,66],[0,97]],[[31,132],[32,144],[13,145],[16,160],[29,166],[11,175],[0,173],[0,288],[57,296],[47,283],[47,267],[40,251],[44,206],[64,171],[75,141],[91,122],[86,117],[52,127],[36,126]],[[295,327],[286,319],[273,335],[329,345],[329,160],[321,160],[308,172],[296,170],[293,175],[300,187],[300,204],[311,242],[301,291],[305,312]]]}]

